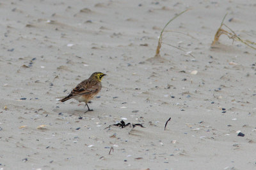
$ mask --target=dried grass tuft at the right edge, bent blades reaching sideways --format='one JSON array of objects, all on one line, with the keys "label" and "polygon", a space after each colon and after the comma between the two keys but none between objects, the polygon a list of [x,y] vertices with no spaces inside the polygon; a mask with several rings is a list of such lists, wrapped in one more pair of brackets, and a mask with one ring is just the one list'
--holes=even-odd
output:
[{"label": "dried grass tuft at the right edge, bent blades reaching sideways", "polygon": [[[222,34],[225,34],[226,36],[228,36],[228,38],[233,39],[233,41],[240,41],[241,43],[244,43],[245,45],[250,46],[251,48],[256,50],[256,48],[254,46],[252,46],[252,45],[255,45],[255,43],[253,43],[252,41],[249,41],[249,40],[243,40],[243,39],[239,38],[239,36],[237,36],[236,32],[234,32],[232,29],[230,29],[230,27],[228,27],[227,25],[225,25],[223,23],[225,18],[226,18],[226,16],[227,16],[227,13],[223,17],[223,20],[221,22],[220,28],[217,30],[217,32],[216,32],[216,34],[214,36],[214,40],[212,41],[212,45],[214,45],[216,42],[219,41],[220,36]],[[223,26],[225,26],[227,29],[229,29],[230,32],[225,31],[225,29],[222,29],[221,27],[223,27]]]}]

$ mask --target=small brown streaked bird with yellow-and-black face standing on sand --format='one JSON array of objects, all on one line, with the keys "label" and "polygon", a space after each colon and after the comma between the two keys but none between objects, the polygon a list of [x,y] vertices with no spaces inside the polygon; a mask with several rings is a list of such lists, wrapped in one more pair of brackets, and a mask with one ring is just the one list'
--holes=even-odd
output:
[{"label": "small brown streaked bird with yellow-and-black face standing on sand", "polygon": [[[89,108],[88,103],[90,100],[100,92],[101,90],[101,80],[104,76],[107,74],[101,73],[101,72],[95,72],[92,73],[90,78],[81,81],[71,92],[68,94],[68,96],[64,97],[61,99],[61,102],[65,102],[69,99],[76,99],[79,101],[79,103],[84,102],[85,106],[87,106],[88,110],[87,111],[93,111],[92,109]],[[84,113],[86,113],[85,111]]]}]

